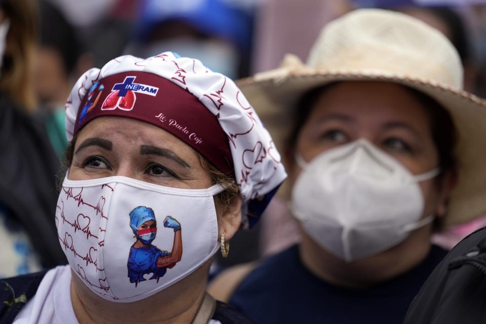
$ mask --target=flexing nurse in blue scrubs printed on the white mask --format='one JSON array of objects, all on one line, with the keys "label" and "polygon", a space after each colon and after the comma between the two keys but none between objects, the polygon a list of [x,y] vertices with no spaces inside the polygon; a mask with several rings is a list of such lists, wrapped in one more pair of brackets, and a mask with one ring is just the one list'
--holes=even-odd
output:
[{"label": "flexing nurse in blue scrubs printed on the white mask", "polygon": [[181,224],[173,217],[167,216],[164,226],[174,229],[172,252],[160,250],[152,245],[157,234],[157,221],[151,208],[139,206],[130,212],[130,227],[137,241],[130,248],[128,276],[130,282],[135,282],[135,287],[146,279],[156,279],[158,282],[158,279],[166,274],[167,268],[173,268],[181,260]]}]

